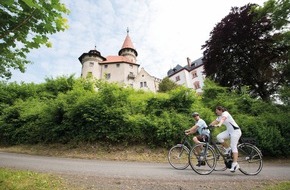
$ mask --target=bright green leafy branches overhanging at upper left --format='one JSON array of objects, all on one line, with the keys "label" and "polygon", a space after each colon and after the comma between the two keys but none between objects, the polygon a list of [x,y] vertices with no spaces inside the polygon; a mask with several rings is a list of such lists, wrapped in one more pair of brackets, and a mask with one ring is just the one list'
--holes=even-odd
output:
[{"label": "bright green leafy branches overhanging at upper left", "polygon": [[41,45],[50,47],[48,35],[68,28],[69,10],[59,0],[5,0],[0,2],[0,77],[10,69],[25,72],[26,55]]}]

